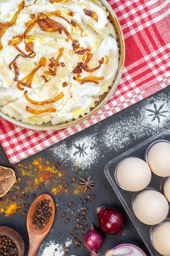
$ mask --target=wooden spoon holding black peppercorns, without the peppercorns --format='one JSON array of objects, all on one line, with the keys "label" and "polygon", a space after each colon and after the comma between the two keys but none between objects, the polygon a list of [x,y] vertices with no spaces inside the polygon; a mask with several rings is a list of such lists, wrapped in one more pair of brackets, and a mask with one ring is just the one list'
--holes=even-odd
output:
[{"label": "wooden spoon holding black peppercorns, without the peppercorns", "polygon": [[[46,227],[44,227],[43,229],[36,229],[36,225],[33,224],[32,216],[36,211],[35,210],[36,204],[43,200],[50,200],[50,203],[48,206],[52,208],[52,211],[50,211],[51,216],[49,218],[49,222],[47,223]],[[54,207],[54,201],[52,200],[51,196],[48,194],[39,195],[31,205],[28,211],[27,219],[26,219],[26,227],[27,227],[28,238],[29,238],[28,256],[35,256],[39,245],[41,244],[42,240],[44,240],[48,232],[50,231],[52,222],[54,220],[54,215],[55,215],[55,207]]]}]

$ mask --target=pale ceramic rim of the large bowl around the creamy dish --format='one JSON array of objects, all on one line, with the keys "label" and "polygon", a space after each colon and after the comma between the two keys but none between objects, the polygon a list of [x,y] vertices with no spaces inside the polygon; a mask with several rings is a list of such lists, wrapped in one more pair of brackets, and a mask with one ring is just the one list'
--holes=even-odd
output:
[{"label": "pale ceramic rim of the large bowl around the creamy dish", "polygon": [[122,77],[122,73],[123,73],[123,69],[124,69],[124,62],[125,62],[125,43],[124,43],[124,35],[122,32],[122,28],[120,26],[120,22],[116,16],[115,12],[111,8],[111,6],[108,4],[107,0],[100,0],[100,1],[102,2],[103,5],[105,5],[107,11],[109,12],[108,18],[110,19],[111,23],[114,25],[114,27],[116,29],[116,33],[118,36],[118,43],[119,43],[120,57],[119,57],[118,71],[116,73],[115,79],[114,79],[111,87],[109,88],[109,91],[106,92],[105,94],[103,94],[102,97],[100,97],[100,100],[96,103],[96,106],[94,108],[91,108],[90,112],[87,113],[85,116],[79,117],[79,119],[76,119],[76,120],[65,122],[64,124],[52,125],[51,123],[47,123],[47,124],[43,124],[40,126],[33,125],[33,124],[26,124],[20,120],[16,120],[14,118],[9,117],[8,115],[5,115],[4,113],[1,112],[1,110],[0,110],[0,117],[6,119],[7,121],[9,121],[17,126],[22,126],[24,128],[28,128],[28,129],[32,129],[32,130],[60,130],[60,129],[65,129],[70,126],[79,124],[79,123],[85,121],[86,119],[88,119],[89,117],[92,117],[92,115],[94,115],[96,112],[98,112],[98,110],[100,110],[107,103],[107,101],[111,98],[113,92],[116,90],[116,88],[119,84],[119,81]]}]

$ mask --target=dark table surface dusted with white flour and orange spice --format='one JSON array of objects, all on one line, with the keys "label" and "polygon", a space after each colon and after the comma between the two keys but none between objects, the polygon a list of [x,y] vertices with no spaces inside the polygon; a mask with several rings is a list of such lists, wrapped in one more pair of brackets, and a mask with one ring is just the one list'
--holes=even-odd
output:
[{"label": "dark table surface dusted with white flour and orange spice", "polygon": [[[149,255],[105,177],[104,168],[109,160],[169,126],[170,87],[17,164],[9,163],[0,146],[0,165],[13,168],[17,181],[7,195],[1,198],[0,225],[12,227],[22,236],[26,256],[26,217],[34,200],[33,195],[37,197],[41,193],[49,193],[54,200],[56,214],[52,228],[41,243],[37,256],[43,255],[44,249],[52,243],[62,248],[63,243],[66,243],[69,249],[63,249],[63,252],[67,251],[69,256],[90,255],[81,234],[85,234],[92,223],[100,231],[96,214],[96,209],[100,206],[117,209],[123,214],[125,236],[106,235],[100,231],[104,243],[98,255],[104,256],[107,249],[120,243],[138,245]],[[89,175],[94,180],[94,189],[87,189],[83,193],[79,177],[87,179]],[[84,222],[81,219],[83,207],[88,209]],[[80,229],[77,224],[83,227]],[[78,238],[81,245],[77,245],[78,240],[73,242],[73,238]],[[53,256],[50,251],[48,255]],[[54,255],[62,254],[56,252]]]}]

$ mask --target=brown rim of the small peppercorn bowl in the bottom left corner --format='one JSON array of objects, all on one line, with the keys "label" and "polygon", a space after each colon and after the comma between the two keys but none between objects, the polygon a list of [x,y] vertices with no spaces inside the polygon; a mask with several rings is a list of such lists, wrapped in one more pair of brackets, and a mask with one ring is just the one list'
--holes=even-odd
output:
[{"label": "brown rim of the small peppercorn bowl in the bottom left corner", "polygon": [[17,247],[18,256],[24,256],[24,251],[25,251],[24,241],[22,240],[22,237],[20,236],[20,234],[17,233],[17,231],[15,231],[14,229],[11,229],[10,227],[0,226],[0,234],[11,238]]}]

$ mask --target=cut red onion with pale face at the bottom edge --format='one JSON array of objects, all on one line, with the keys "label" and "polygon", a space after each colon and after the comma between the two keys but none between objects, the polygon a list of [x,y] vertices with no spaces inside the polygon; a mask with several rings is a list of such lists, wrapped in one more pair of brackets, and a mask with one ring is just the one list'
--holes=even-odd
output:
[{"label": "cut red onion with pale face at the bottom edge", "polygon": [[107,250],[105,256],[146,256],[146,254],[137,245],[121,244]]}]

